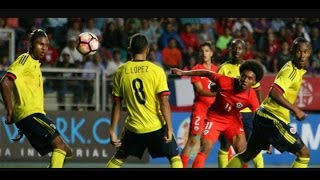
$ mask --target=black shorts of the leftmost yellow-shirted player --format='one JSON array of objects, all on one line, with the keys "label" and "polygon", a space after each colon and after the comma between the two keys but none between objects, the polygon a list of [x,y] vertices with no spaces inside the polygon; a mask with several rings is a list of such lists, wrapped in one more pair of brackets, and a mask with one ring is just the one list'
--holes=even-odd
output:
[{"label": "black shorts of the leftmost yellow-shirted player", "polygon": [[54,123],[40,113],[22,119],[16,123],[16,126],[41,156],[52,151],[51,142],[56,136],[60,135]]}]

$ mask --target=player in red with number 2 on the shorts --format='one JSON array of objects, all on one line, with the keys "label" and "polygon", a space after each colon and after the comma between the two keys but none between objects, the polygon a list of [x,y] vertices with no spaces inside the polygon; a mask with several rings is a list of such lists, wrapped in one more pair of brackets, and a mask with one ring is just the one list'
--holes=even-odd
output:
[{"label": "player in red with number 2 on the shorts", "polygon": [[[213,52],[210,42],[200,45],[201,62],[192,67],[192,70],[217,71],[218,67],[211,63]],[[188,140],[181,152],[181,160],[184,168],[188,167],[190,153],[197,144],[197,136],[201,134],[207,110],[215,99],[215,93],[210,91],[211,80],[207,77],[192,76],[191,83],[195,92],[192,106]]]}]

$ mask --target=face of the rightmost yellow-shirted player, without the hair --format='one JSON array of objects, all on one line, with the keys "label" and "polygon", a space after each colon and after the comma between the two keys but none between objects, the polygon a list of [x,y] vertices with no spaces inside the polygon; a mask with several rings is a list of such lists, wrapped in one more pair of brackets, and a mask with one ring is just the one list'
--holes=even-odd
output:
[{"label": "face of the rightmost yellow-shirted player, without the hair", "polygon": [[306,68],[309,57],[311,55],[311,47],[309,43],[299,43],[297,45],[297,48],[294,52],[295,58],[295,64],[299,69]]}]

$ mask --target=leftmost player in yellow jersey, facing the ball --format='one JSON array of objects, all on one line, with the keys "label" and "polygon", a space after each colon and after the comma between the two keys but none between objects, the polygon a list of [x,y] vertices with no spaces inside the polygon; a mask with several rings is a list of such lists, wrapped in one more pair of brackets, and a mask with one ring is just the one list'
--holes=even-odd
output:
[{"label": "leftmost player in yellow jersey, facing the ball", "polygon": [[[70,147],[44,112],[43,79],[40,69],[49,46],[47,34],[36,29],[30,35],[30,49],[21,54],[1,79],[1,95],[7,109],[6,124],[19,128],[41,156],[52,152],[51,168],[61,168],[71,159]],[[11,98],[13,94],[14,99]]]}]

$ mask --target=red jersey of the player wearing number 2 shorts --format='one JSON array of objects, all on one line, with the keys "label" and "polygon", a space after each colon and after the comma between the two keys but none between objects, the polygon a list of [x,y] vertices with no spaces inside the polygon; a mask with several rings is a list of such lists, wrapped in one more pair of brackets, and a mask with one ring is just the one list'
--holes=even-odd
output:
[{"label": "red jersey of the player wearing number 2 shorts", "polygon": [[[206,70],[206,67],[203,64],[196,64],[192,67],[191,70]],[[218,67],[214,64],[211,64],[211,71],[218,71]],[[200,82],[202,85],[203,90],[210,91],[210,84],[212,83],[211,80],[208,77],[200,77],[200,76],[191,76],[191,83]],[[200,96],[198,93],[195,93],[194,103],[202,102],[206,105],[210,106],[215,97],[209,97],[209,96]]]}]

